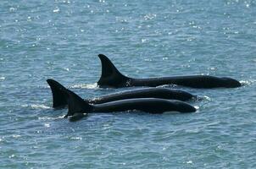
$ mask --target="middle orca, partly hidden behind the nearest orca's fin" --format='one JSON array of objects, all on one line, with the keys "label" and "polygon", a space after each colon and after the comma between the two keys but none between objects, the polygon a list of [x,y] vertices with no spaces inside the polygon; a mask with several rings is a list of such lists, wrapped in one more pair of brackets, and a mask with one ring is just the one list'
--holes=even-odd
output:
[{"label": "middle orca, partly hidden behind the nearest orca's fin", "polygon": [[[65,87],[54,79],[47,79],[47,83],[53,93],[53,108],[61,108],[67,106],[68,101],[65,98],[63,92]],[[197,95],[192,95],[183,90],[170,90],[166,88],[144,88],[136,90],[125,90],[110,95],[99,96],[93,99],[86,99],[85,101],[90,104],[101,104],[109,101],[119,101],[134,98],[160,98],[168,100],[189,101],[193,98],[197,98]]]}]

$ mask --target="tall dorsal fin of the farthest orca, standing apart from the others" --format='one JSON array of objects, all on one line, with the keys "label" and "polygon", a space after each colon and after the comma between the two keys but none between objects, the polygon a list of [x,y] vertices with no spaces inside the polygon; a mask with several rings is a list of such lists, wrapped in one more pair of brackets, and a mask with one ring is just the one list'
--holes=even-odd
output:
[{"label": "tall dorsal fin of the farthest orca, standing apart from the others", "polygon": [[102,75],[98,80],[97,85],[118,87],[121,84],[126,83],[129,78],[121,74],[108,57],[103,54],[99,54],[98,57],[102,63]]}]

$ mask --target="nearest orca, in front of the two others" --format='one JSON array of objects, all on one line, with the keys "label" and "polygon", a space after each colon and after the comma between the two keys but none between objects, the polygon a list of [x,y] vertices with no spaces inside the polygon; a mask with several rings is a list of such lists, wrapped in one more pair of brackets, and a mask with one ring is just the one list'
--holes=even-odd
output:
[{"label": "nearest orca, in front of the two others", "polygon": [[90,105],[73,91],[62,88],[67,101],[69,111],[64,117],[83,117],[88,113],[97,112],[126,112],[141,111],[149,113],[163,112],[196,112],[196,108],[183,101],[170,101],[159,98],[137,98],[120,101],[110,101],[107,103]]}]

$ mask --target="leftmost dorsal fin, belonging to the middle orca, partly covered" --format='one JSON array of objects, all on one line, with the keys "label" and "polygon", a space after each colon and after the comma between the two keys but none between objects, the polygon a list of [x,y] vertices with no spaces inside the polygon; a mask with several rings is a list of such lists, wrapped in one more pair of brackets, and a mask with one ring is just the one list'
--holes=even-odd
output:
[{"label": "leftmost dorsal fin, belonging to the middle orca, partly covered", "polygon": [[53,93],[53,108],[68,105],[68,101],[63,92],[66,88],[54,79],[47,79],[47,83],[51,87]]}]

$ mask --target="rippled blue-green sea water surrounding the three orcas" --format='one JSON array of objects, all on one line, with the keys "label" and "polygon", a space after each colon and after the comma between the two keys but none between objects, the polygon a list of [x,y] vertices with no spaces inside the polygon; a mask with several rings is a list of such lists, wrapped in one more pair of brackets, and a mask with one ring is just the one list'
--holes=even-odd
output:
[{"label": "rippled blue-green sea water surrounding the three orcas", "polygon": [[[0,168],[256,168],[256,1],[0,2]],[[210,74],[237,89],[196,90],[189,114],[54,111],[46,79],[83,98],[97,54],[134,78]]]}]

